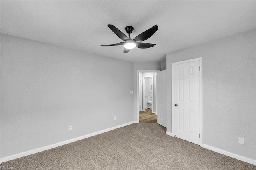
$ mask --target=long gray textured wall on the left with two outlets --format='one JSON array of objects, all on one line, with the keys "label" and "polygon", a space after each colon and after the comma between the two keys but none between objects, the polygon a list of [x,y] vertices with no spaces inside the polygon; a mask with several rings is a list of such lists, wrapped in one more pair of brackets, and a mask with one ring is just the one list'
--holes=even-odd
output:
[{"label": "long gray textured wall on the left with two outlets", "polygon": [[131,89],[132,62],[1,34],[1,157],[133,121]]}]

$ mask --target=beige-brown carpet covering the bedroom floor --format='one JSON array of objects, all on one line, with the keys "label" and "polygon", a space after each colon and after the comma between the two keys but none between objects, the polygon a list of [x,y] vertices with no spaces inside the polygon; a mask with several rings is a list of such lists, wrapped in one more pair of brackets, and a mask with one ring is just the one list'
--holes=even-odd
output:
[{"label": "beige-brown carpet covering the bedroom floor", "polygon": [[256,170],[256,166],[165,134],[157,123],[118,128],[4,162],[14,170]]}]

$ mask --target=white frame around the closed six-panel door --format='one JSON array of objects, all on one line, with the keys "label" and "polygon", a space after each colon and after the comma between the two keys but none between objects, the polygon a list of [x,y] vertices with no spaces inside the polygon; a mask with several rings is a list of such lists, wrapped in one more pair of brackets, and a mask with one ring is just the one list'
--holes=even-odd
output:
[{"label": "white frame around the closed six-panel door", "polygon": [[[203,57],[172,63],[172,137],[174,137],[174,65],[200,61],[200,146],[203,144]],[[199,69],[199,68],[198,68]]]}]

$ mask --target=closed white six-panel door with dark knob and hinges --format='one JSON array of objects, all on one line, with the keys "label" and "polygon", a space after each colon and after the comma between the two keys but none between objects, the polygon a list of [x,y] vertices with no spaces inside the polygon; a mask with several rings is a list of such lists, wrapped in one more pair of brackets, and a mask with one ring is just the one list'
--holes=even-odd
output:
[{"label": "closed white six-panel door with dark knob and hinges", "polygon": [[174,65],[174,135],[200,144],[200,61]]}]

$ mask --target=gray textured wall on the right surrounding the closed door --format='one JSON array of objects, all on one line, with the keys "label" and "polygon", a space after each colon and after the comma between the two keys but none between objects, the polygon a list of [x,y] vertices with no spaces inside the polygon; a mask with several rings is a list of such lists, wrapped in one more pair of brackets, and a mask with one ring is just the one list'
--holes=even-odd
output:
[{"label": "gray textured wall on the right surrounding the closed door", "polygon": [[[203,57],[203,143],[256,160],[256,30],[167,54],[168,125],[171,64]],[[238,144],[238,137],[245,145]]]}]

